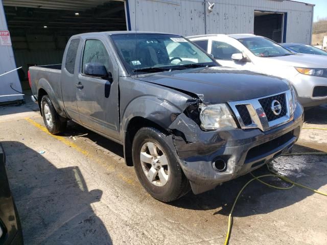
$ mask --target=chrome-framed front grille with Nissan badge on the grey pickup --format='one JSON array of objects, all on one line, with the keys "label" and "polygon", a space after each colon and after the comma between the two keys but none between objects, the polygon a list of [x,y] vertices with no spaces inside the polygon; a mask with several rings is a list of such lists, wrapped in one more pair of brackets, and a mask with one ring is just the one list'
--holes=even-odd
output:
[{"label": "chrome-framed front grille with Nissan badge on the grey pickup", "polygon": [[[277,111],[272,105],[274,100],[279,102]],[[267,131],[293,119],[293,111],[290,111],[292,103],[292,93],[287,90],[257,99],[229,102],[228,104],[242,129],[259,128]]]}]

